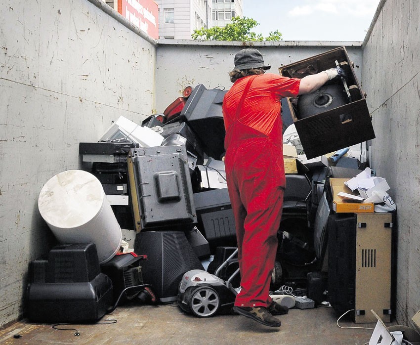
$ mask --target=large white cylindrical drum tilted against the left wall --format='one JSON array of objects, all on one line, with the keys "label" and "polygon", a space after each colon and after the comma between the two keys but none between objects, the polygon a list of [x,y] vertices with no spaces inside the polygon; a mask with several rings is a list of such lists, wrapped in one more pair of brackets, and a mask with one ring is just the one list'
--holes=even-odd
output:
[{"label": "large white cylindrical drum tilted against the left wall", "polygon": [[99,263],[112,259],[122,233],[101,182],[83,170],[50,178],[41,189],[38,208],[61,243],[94,243]]}]

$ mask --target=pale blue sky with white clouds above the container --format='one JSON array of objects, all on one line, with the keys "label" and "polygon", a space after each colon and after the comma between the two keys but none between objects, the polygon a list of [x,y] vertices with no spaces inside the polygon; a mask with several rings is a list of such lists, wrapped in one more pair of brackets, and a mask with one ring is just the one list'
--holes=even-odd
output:
[{"label": "pale blue sky with white clouds above the container", "polygon": [[243,0],[244,16],[264,37],[284,41],[363,41],[380,0]]}]

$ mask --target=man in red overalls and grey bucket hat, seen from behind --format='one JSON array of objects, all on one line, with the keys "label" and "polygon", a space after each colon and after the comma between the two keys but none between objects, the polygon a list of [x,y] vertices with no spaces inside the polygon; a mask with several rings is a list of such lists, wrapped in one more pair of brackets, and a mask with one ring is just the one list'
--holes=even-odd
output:
[{"label": "man in red overalls and grey bucket hat, seen from behind", "polygon": [[280,327],[273,315],[285,314],[288,308],[269,296],[286,186],[280,100],[313,92],[342,70],[302,79],[264,74],[270,66],[253,48],[239,51],[234,63],[229,73],[234,84],[223,100],[225,170],[241,272],[241,291],[233,310],[266,326]]}]

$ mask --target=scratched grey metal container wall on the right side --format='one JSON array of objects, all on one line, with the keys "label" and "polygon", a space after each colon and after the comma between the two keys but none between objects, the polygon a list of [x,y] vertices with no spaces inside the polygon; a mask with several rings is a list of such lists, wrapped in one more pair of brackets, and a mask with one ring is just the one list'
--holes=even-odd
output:
[{"label": "scratched grey metal container wall on the right side", "polygon": [[381,2],[362,85],[377,136],[371,165],[397,204],[397,319],[410,324],[420,309],[420,11],[415,0]]}]

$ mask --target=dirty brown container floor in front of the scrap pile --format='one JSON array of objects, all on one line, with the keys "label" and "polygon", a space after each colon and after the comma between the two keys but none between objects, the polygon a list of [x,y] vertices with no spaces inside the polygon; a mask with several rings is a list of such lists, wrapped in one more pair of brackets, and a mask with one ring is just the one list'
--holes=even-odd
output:
[{"label": "dirty brown container floor in front of the scrap pile", "polygon": [[[96,324],[62,325],[55,330],[50,324],[16,322],[0,331],[0,344],[164,344],[164,345],[363,345],[369,342],[372,330],[341,329],[336,325],[333,309],[290,309],[281,315],[280,328],[265,327],[239,315],[216,315],[197,318],[183,313],[176,304],[157,306],[124,304]],[[106,323],[106,320],[117,320]],[[342,327],[370,327],[355,324],[343,317]],[[21,338],[15,339],[14,336]]]}]

